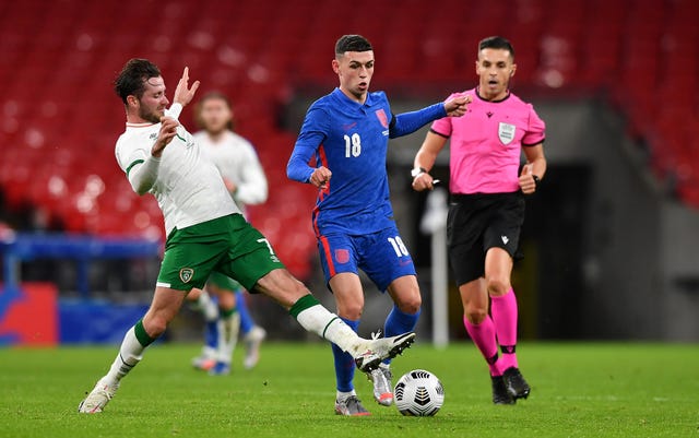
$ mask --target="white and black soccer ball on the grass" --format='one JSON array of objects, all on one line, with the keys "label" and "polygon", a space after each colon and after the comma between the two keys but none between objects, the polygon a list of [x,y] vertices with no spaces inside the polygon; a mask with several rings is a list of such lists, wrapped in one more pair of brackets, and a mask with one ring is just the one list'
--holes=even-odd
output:
[{"label": "white and black soccer ball on the grass", "polygon": [[414,369],[395,383],[393,399],[403,415],[433,416],[445,403],[445,388],[434,374]]}]

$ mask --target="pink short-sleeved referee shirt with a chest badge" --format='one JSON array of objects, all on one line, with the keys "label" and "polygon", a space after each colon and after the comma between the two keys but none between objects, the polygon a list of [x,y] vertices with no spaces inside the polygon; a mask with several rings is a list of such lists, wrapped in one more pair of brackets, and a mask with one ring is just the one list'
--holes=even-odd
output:
[{"label": "pink short-sleeved referee shirt with a chest badge", "polygon": [[518,191],[522,146],[544,141],[544,121],[531,104],[512,93],[502,100],[487,102],[473,88],[449,98],[466,94],[473,102],[465,115],[445,117],[431,126],[451,142],[449,190],[462,194]]}]

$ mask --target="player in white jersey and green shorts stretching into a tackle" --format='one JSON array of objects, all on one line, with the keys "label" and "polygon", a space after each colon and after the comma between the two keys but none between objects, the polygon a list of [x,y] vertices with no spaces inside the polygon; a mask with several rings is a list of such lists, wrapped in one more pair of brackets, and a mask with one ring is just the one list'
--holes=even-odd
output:
[{"label": "player in white jersey and green shorts stretching into a tackle", "polygon": [[185,68],[167,109],[165,81],[146,59],[129,60],[115,81],[127,114],[126,132],[116,145],[117,162],[137,193],[157,199],[167,240],[149,310],[127,331],[109,370],[80,403],[80,413],[103,412],[121,379],[177,315],[189,291],[203,287],[212,272],[233,277],[250,293],[270,296],[304,329],[352,354],[363,371],[376,369],[415,340],[413,332],[359,338],[285,269],[270,242],[242,217],[216,167],[177,120],[198,87],[199,81],[189,86]]}]

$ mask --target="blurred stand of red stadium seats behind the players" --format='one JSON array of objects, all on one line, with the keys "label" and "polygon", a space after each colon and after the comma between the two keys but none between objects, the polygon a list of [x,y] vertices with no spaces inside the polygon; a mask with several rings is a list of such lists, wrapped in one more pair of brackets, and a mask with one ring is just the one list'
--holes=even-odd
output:
[{"label": "blurred stand of red stadium seats behind the players", "polygon": [[[518,86],[606,96],[657,178],[699,208],[697,16],[695,0],[2,2],[0,189],[8,209],[32,205],[69,232],[163,237],[155,201],[115,162],[123,114],[110,83],[131,57],[158,63],[171,88],[189,66],[202,91],[233,98],[271,182],[252,222],[303,277],[315,193],[287,182],[295,133],[277,123],[294,90],[335,85],[342,33],[374,42],[382,87],[412,90],[471,78],[475,42],[501,34],[518,49]],[[182,120],[193,130],[191,109]]]}]

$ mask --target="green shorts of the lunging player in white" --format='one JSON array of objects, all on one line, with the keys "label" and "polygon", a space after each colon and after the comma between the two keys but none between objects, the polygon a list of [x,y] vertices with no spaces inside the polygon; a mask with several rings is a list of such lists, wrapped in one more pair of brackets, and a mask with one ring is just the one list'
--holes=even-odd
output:
[{"label": "green shorts of the lunging player in white", "polygon": [[283,268],[266,238],[242,215],[232,214],[175,228],[165,242],[157,286],[177,291],[202,288],[215,271],[253,293],[258,280]]}]

